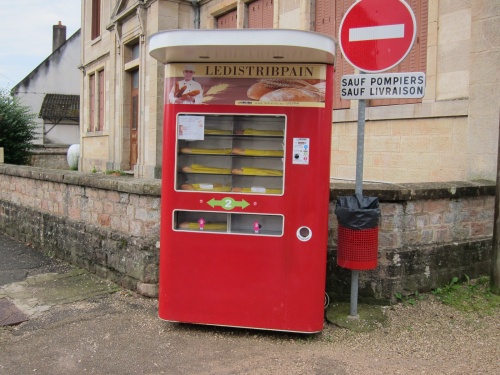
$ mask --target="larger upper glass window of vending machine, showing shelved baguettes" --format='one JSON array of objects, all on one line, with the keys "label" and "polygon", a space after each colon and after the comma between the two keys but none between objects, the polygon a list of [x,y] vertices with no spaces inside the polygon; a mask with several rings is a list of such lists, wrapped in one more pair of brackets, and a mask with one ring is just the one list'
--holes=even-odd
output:
[{"label": "larger upper glass window of vending machine, showing shelved baguettes", "polygon": [[176,189],[283,195],[285,116],[179,114]]}]

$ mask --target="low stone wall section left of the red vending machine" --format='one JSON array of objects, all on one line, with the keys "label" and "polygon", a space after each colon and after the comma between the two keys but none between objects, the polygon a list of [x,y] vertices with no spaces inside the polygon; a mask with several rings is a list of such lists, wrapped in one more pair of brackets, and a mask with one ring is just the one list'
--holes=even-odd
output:
[{"label": "low stone wall section left of the red vending machine", "polygon": [[159,180],[0,166],[0,231],[157,295]]}]

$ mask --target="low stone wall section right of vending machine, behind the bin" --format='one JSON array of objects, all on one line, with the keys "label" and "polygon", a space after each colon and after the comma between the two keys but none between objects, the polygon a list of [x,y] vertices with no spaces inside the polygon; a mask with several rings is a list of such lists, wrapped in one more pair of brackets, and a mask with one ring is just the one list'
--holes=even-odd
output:
[{"label": "low stone wall section right of vending machine, behind the bin", "polygon": [[[378,266],[360,272],[359,296],[394,300],[448,284],[453,277],[489,275],[495,206],[492,181],[365,184],[379,197]],[[335,199],[352,195],[352,184],[332,184],[327,290],[349,298],[350,270],[336,264]]]}]

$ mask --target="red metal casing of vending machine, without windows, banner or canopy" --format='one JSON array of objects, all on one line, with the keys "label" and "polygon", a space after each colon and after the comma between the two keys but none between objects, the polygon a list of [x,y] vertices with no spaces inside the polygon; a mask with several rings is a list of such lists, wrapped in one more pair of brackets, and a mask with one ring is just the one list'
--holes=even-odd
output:
[{"label": "red metal casing of vending machine, without windows, banner or canopy", "polygon": [[[165,104],[163,129],[159,317],[209,325],[313,333],[323,329],[328,241],[333,65],[324,106]],[[166,92],[166,96],[168,93]],[[283,192],[278,195],[182,191],[176,185],[178,116],[278,115],[286,119]],[[294,139],[310,140],[309,162],[293,163]],[[227,213],[208,204],[249,205],[232,214],[281,215],[278,236],[183,231],[175,212]],[[299,239],[302,227],[310,238]]]}]

